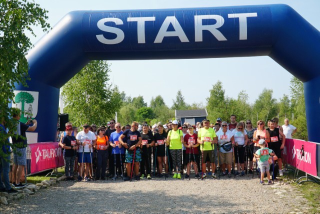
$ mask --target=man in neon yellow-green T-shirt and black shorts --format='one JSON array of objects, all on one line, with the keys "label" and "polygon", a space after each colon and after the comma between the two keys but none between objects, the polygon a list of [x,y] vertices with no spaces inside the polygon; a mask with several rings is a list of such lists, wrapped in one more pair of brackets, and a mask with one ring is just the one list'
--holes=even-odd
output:
[{"label": "man in neon yellow-green T-shirt and black shorts", "polygon": [[[205,174],[205,160],[208,157],[210,159],[211,168],[212,168],[212,177],[216,178],[215,175],[215,167],[216,167],[216,151],[214,147],[214,143],[217,143],[217,137],[215,135],[215,131],[210,126],[210,121],[208,119],[203,120],[203,128],[198,130],[198,143],[200,143],[200,150],[201,150],[201,168],[202,168],[202,178],[206,177]],[[209,171],[209,169],[208,169]]]}]

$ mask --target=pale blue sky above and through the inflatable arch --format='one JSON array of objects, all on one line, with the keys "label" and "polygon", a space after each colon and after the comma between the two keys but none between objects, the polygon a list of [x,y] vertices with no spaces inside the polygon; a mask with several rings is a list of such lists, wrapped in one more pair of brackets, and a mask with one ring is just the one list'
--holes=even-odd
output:
[{"label": "pale blue sky above and through the inflatable arch", "polygon": [[[256,5],[284,3],[295,9],[316,29],[320,29],[320,0],[35,0],[48,10],[47,22],[54,26],[72,10],[122,10],[161,9],[184,7],[215,7],[232,5]],[[34,28],[36,37],[29,36],[34,44],[44,34]],[[142,95],[147,104],[152,97],[161,95],[164,102],[172,105],[178,90],[184,100],[206,105],[209,90],[218,80],[225,95],[237,98],[244,90],[249,103],[254,103],[263,88],[272,89],[273,97],[290,95],[292,75],[268,56],[171,59],[171,60],[110,60],[110,82],[117,85],[127,96]],[[200,74],[199,74],[200,73]],[[263,81],[261,81],[261,74]],[[205,78],[203,78],[205,76]],[[132,90],[132,82],[138,86]],[[257,84],[258,82],[258,84]],[[156,86],[155,86],[156,85]]]}]

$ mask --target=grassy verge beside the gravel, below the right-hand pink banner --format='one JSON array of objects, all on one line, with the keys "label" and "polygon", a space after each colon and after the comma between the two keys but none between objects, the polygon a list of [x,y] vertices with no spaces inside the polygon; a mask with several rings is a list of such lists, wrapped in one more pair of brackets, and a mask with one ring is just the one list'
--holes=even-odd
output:
[{"label": "grassy verge beside the gravel, below the right-hand pink banner", "polygon": [[[283,175],[284,176],[281,178],[283,181],[295,181],[297,179],[296,177],[305,176],[305,173],[299,172],[298,176],[294,176],[294,172],[289,171]],[[293,182],[291,184],[294,185],[303,194],[303,197],[310,202],[312,208],[308,210],[308,212],[320,213],[320,184],[314,182],[302,182],[301,184]]]}]

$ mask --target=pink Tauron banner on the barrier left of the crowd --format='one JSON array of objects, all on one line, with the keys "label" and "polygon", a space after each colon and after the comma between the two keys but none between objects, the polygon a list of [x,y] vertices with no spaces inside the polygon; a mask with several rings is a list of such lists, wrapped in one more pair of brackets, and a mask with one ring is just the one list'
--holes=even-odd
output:
[{"label": "pink Tauron banner on the barrier left of the crowd", "polygon": [[32,143],[29,144],[29,147],[31,154],[31,174],[64,165],[58,142]]}]

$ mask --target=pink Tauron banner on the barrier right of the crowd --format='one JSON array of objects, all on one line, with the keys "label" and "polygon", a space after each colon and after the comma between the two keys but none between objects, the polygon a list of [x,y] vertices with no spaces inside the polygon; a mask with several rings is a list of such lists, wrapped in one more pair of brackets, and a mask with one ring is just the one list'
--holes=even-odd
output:
[{"label": "pink Tauron banner on the barrier right of the crowd", "polygon": [[[303,146],[303,149],[302,149]],[[303,155],[302,155],[302,150]],[[281,157],[298,169],[317,176],[316,173],[316,144],[299,139],[285,139]]]}]

